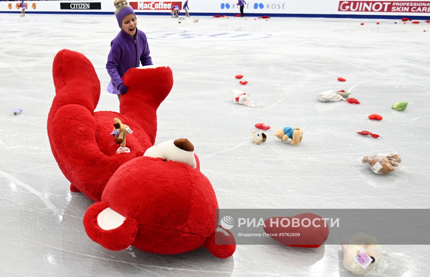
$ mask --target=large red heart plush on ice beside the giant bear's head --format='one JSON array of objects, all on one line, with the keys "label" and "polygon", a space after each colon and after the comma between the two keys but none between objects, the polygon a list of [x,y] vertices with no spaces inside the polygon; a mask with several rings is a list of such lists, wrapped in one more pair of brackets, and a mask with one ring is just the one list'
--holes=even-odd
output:
[{"label": "large red heart plush on ice beside the giant bear's head", "polygon": [[[298,219],[302,222],[303,219],[304,225],[308,225],[308,220],[310,220],[309,227],[292,227],[292,219]],[[286,226],[288,225],[289,220],[290,224],[288,227],[283,227],[281,223]],[[312,222],[315,219],[315,224]],[[276,225],[276,221],[278,224]],[[270,226],[270,222],[275,222]],[[270,236],[274,240],[279,243],[292,246],[292,247],[307,247],[307,248],[316,248],[322,245],[329,237],[329,226],[324,225],[324,219],[321,216],[313,214],[313,213],[301,213],[299,215],[295,215],[293,217],[271,217],[264,221],[264,231],[267,234],[278,234],[277,236]],[[320,225],[319,227],[316,227]],[[300,236],[287,236],[279,234],[300,234]]]}]

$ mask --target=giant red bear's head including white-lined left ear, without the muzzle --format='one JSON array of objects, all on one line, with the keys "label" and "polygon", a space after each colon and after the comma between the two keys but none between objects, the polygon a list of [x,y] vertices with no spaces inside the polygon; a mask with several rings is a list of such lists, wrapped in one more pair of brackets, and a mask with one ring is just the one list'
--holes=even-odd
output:
[{"label": "giant red bear's head including white-lined left ear, without the muzzle", "polygon": [[199,168],[139,157],[120,166],[83,223],[88,236],[107,249],[133,245],[177,254],[203,246],[214,233],[215,209],[215,192]]}]

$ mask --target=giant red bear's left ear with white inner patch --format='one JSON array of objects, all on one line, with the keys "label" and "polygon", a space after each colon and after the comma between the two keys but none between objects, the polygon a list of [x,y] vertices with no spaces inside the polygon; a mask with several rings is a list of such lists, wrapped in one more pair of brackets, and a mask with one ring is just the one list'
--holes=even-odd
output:
[{"label": "giant red bear's left ear with white inner patch", "polygon": [[115,212],[106,202],[92,204],[83,217],[88,237],[109,250],[123,250],[132,245],[139,225],[132,217]]}]

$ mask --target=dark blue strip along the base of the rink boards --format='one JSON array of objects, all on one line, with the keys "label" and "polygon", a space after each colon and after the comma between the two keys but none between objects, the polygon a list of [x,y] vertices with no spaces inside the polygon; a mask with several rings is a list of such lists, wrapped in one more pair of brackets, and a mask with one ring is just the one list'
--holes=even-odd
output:
[{"label": "dark blue strip along the base of the rink boards", "polygon": [[[21,10],[17,11],[0,11],[0,13],[21,13]],[[80,15],[114,15],[114,12],[41,12],[41,11],[26,11],[26,13],[37,13],[37,14],[80,14]],[[166,15],[170,17],[169,12],[135,12],[137,15]],[[184,12],[181,12],[181,14]],[[184,13],[185,14],[185,13]],[[212,13],[212,12],[190,12],[191,17],[193,16],[215,16],[215,15],[227,15],[233,17],[238,13]],[[339,15],[339,14],[295,14],[295,13],[245,13],[245,17],[261,17],[267,15],[269,17],[298,17],[298,18],[361,18],[361,19],[398,19],[406,17],[406,15]],[[411,19],[430,19],[429,16],[422,15],[408,15]]]}]

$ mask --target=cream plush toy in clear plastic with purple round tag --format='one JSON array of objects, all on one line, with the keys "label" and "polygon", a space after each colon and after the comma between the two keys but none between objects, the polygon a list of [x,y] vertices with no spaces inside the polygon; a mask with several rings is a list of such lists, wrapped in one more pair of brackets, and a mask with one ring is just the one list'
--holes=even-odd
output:
[{"label": "cream plush toy in clear plastic with purple round tag", "polygon": [[375,237],[363,233],[341,240],[343,265],[357,275],[375,273],[382,261],[382,249]]}]

